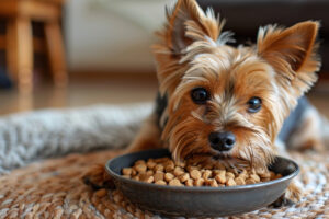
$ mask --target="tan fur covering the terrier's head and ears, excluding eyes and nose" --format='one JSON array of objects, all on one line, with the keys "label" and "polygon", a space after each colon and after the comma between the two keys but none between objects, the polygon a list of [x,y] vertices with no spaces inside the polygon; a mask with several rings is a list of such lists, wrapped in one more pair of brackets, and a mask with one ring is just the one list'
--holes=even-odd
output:
[{"label": "tan fur covering the terrier's head and ears, excluding eyes and nose", "polygon": [[[169,11],[161,42],[154,46],[160,92],[168,95],[161,140],[177,160],[265,168],[284,119],[317,80],[318,22],[269,25],[260,28],[257,45],[235,48],[225,44],[224,22],[194,0],[179,0]],[[211,93],[205,105],[191,100],[197,87]],[[254,114],[247,112],[252,96],[262,100]],[[218,154],[207,137],[223,130],[234,132],[236,145]],[[297,193],[292,185],[290,194]]]}]

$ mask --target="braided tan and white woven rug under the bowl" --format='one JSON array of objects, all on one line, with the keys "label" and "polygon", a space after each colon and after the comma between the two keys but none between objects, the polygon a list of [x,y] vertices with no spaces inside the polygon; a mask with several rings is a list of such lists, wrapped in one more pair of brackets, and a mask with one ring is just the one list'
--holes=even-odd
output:
[{"label": "braided tan and white woven rug under the bowl", "polygon": [[[81,176],[117,151],[70,154],[33,163],[0,177],[0,218],[161,218],[129,204],[118,191],[92,191]],[[292,154],[300,168],[300,203],[228,218],[329,218],[329,152]]]}]

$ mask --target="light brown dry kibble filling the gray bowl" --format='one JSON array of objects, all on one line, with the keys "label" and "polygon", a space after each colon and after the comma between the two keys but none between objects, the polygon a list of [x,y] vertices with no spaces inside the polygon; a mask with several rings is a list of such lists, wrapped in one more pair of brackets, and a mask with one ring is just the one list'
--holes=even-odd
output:
[{"label": "light brown dry kibble filling the gray bowl", "polygon": [[174,163],[170,158],[138,160],[132,168],[122,170],[124,177],[171,186],[236,186],[266,182],[282,177],[272,171],[237,171],[222,164],[202,169],[198,165]]}]

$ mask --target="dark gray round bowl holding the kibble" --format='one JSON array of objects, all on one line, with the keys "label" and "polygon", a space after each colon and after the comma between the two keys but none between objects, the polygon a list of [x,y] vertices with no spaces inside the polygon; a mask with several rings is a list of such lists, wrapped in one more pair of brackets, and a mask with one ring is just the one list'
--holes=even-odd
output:
[{"label": "dark gray round bowl holding the kibble", "polygon": [[170,157],[164,150],[129,153],[110,160],[106,171],[115,186],[140,209],[163,216],[219,217],[252,211],[275,201],[299,170],[288,159],[277,157],[270,166],[282,178],[254,185],[232,187],[177,187],[143,183],[121,175],[123,168],[137,160]]}]

